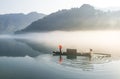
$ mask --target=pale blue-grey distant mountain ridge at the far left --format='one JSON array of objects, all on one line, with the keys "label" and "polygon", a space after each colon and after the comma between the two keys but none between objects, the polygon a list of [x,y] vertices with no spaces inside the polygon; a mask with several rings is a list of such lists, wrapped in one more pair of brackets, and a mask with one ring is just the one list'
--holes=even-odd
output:
[{"label": "pale blue-grey distant mountain ridge at the far left", "polygon": [[36,12],[0,15],[0,34],[14,33],[15,31],[24,29],[33,21],[41,19],[44,16],[45,14]]}]

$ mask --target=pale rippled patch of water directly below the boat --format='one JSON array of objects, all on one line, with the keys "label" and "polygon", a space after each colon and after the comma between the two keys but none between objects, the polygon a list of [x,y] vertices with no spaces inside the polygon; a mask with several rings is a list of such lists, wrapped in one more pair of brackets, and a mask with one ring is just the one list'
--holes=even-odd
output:
[{"label": "pale rippled patch of water directly below the boat", "polygon": [[111,57],[97,55],[92,57],[77,56],[75,59],[68,59],[66,56],[62,56],[60,59],[60,56],[52,56],[49,54],[42,57],[44,61],[58,64],[63,68],[72,68],[82,71],[103,71],[105,70],[104,66],[113,61]]}]

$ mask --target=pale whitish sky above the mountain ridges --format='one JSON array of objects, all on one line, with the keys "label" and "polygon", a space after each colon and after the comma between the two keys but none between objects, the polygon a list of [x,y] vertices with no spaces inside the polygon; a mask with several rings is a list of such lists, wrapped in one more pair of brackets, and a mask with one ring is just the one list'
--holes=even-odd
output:
[{"label": "pale whitish sky above the mountain ridges", "polygon": [[120,0],[0,0],[0,14],[29,13],[50,14],[62,9],[91,4],[97,8],[120,7]]}]

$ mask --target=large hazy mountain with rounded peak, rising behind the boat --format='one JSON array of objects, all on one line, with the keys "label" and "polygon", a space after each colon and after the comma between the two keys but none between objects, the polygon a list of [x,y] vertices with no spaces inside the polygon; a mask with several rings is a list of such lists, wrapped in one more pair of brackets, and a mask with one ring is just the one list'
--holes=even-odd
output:
[{"label": "large hazy mountain with rounded peak, rising behind the boat", "polygon": [[118,30],[120,11],[104,12],[89,4],[80,8],[61,10],[33,22],[20,32],[78,31],[78,30]]}]

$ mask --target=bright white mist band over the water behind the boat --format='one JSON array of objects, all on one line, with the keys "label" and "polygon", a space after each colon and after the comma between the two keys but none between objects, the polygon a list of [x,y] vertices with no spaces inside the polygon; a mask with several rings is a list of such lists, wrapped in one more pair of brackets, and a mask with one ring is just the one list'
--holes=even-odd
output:
[{"label": "bright white mist band over the water behind the boat", "polygon": [[36,43],[54,47],[61,44],[63,50],[74,48],[79,52],[89,51],[120,55],[120,31],[54,31],[46,33],[29,33],[13,36],[17,39],[26,39]]}]

